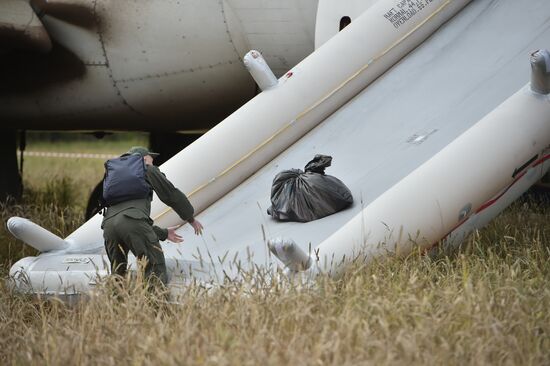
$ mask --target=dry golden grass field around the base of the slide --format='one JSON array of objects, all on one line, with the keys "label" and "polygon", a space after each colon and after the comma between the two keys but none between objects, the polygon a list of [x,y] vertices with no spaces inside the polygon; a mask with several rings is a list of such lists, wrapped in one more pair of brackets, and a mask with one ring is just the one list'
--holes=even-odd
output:
[{"label": "dry golden grass field around the base of the slide", "polygon": [[[59,197],[84,200],[81,185],[93,180],[95,165],[86,170],[81,162],[75,171],[40,159],[43,175],[25,176],[32,187],[25,203],[3,206],[2,219],[26,216],[64,236],[80,225],[82,209]],[[139,281],[117,297],[106,283],[73,305],[3,283],[0,364],[548,365],[549,218],[548,203],[525,199],[457,253],[357,265],[339,281],[319,278],[309,288],[195,284],[177,305]],[[32,251],[5,226],[0,240],[5,278]]]}]

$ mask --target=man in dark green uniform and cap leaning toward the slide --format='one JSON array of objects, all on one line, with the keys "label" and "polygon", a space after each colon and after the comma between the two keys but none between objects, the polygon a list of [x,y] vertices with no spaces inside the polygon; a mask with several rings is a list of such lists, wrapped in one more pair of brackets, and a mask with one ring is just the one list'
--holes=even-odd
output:
[{"label": "man in dark green uniform and cap leaning toward the slide", "polygon": [[[147,148],[132,147],[126,154],[139,154],[143,157],[146,167],[146,181],[151,185],[157,196],[184,221],[195,230],[196,235],[202,233],[201,223],[193,218],[194,209],[185,194],[166,178],[153,165],[153,158],[158,154]],[[106,209],[101,227],[105,239],[105,249],[111,261],[111,273],[124,276],[128,265],[128,251],[137,259],[146,259],[145,276],[156,277],[163,284],[168,282],[164,253],[159,240],[166,239],[180,243],[182,237],[176,233],[177,226],[160,228],[153,225],[151,214],[151,196],[117,203]]]}]

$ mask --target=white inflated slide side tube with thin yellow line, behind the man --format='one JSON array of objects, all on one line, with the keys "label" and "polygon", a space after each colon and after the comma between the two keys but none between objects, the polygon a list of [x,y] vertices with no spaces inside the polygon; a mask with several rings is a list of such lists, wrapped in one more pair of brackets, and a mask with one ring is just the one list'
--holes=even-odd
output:
[{"label": "white inflated slide side tube with thin yellow line, behind the man", "polygon": [[[435,0],[415,17],[396,23],[385,16],[396,0],[373,5],[312,55],[290,70],[276,87],[259,94],[208,131],[161,169],[178,182],[197,212],[229,193],[298,141],[382,73],[422,43],[469,0]],[[376,37],[372,35],[376,34]],[[331,67],[331,65],[338,67]],[[162,227],[180,223],[158,199],[152,217]],[[98,242],[100,216],[66,240]],[[99,240],[100,241],[100,240]]]}]

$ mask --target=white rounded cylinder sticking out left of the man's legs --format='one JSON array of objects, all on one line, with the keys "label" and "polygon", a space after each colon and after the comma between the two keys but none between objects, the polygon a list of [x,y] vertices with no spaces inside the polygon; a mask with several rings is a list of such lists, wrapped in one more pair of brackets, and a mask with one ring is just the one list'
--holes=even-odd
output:
[{"label": "white rounded cylinder sticking out left of the man's legs", "polygon": [[67,249],[69,246],[69,244],[59,236],[22,217],[10,218],[8,220],[8,230],[17,239],[23,240],[25,243],[41,252],[63,250]]}]

